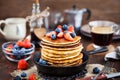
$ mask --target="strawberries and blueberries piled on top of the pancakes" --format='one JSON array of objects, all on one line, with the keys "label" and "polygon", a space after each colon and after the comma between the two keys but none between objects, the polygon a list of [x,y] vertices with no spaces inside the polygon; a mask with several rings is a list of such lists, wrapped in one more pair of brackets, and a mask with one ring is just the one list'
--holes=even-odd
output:
[{"label": "strawberries and blueberries piled on top of the pancakes", "polygon": [[73,38],[76,37],[76,33],[72,25],[58,25],[55,31],[47,33],[46,36],[50,37],[52,40],[56,38],[65,38],[66,40],[73,41]]}]

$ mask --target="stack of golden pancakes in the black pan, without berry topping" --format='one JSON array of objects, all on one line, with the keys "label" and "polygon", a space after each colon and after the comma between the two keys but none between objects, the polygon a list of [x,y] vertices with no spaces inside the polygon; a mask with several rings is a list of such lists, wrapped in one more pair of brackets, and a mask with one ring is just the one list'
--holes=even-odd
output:
[{"label": "stack of golden pancakes in the black pan, without berry topping", "polygon": [[80,42],[81,37],[76,36],[73,41],[64,38],[52,40],[43,37],[41,41],[41,58],[52,66],[73,66],[82,63],[83,46]]}]

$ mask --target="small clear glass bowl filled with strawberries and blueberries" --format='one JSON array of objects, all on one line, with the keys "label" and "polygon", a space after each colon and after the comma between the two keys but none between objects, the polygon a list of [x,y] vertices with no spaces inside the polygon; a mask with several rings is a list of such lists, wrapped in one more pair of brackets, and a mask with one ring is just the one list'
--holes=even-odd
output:
[{"label": "small clear glass bowl filled with strawberries and blueberries", "polygon": [[29,39],[24,39],[23,41],[3,43],[2,51],[8,60],[18,62],[20,59],[29,60],[35,51],[35,46]]}]

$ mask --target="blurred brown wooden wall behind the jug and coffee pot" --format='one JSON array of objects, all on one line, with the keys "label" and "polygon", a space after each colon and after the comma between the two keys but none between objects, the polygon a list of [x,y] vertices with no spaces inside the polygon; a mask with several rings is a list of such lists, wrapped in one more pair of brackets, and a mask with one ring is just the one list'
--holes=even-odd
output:
[{"label": "blurred brown wooden wall behind the jug and coffee pot", "polygon": [[[120,24],[120,0],[39,0],[40,10],[50,7],[50,12],[60,12],[76,5],[78,9],[88,8],[92,12],[90,20],[110,20]],[[0,0],[0,20],[8,17],[31,15],[33,0]],[[85,16],[85,15],[84,15]],[[83,16],[83,17],[84,17]],[[83,18],[83,24],[88,21]]]}]

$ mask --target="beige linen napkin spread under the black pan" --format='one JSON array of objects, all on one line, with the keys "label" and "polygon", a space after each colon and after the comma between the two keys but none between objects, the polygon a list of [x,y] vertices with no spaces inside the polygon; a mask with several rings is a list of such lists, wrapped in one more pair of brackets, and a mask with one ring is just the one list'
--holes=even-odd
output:
[{"label": "beige linen napkin spread under the black pan", "polygon": [[[95,68],[95,67],[98,67],[98,68],[100,69],[100,71],[101,71],[101,70],[104,68],[104,65],[102,65],[102,64],[87,64],[87,65],[86,65],[87,73],[85,74],[84,77],[95,76],[96,74],[93,74],[93,68]],[[43,77],[40,77],[40,76],[38,75],[38,73],[37,73],[37,67],[36,67],[36,66],[32,66],[32,67],[29,68],[28,70],[14,70],[14,71],[11,72],[10,74],[11,74],[12,77],[15,77],[15,76],[20,76],[20,74],[21,74],[22,72],[25,72],[25,73],[27,74],[27,77],[26,77],[26,78],[28,78],[28,76],[29,76],[30,74],[33,74],[33,73],[34,73],[34,74],[36,74],[36,75],[39,77],[38,80],[44,80]],[[116,72],[116,70],[115,70],[114,68],[112,68],[111,71],[110,71],[110,73],[112,73],[112,72]],[[78,77],[79,77],[79,76],[78,76]],[[76,78],[77,78],[77,77],[76,77]],[[46,80],[51,80],[51,79],[46,79]],[[55,79],[52,78],[52,80],[56,80],[56,78],[55,78]],[[59,79],[57,79],[57,80],[67,80],[67,78],[66,78],[66,79],[61,79],[61,78],[59,78]],[[71,79],[68,79],[68,80],[71,80]]]}]

